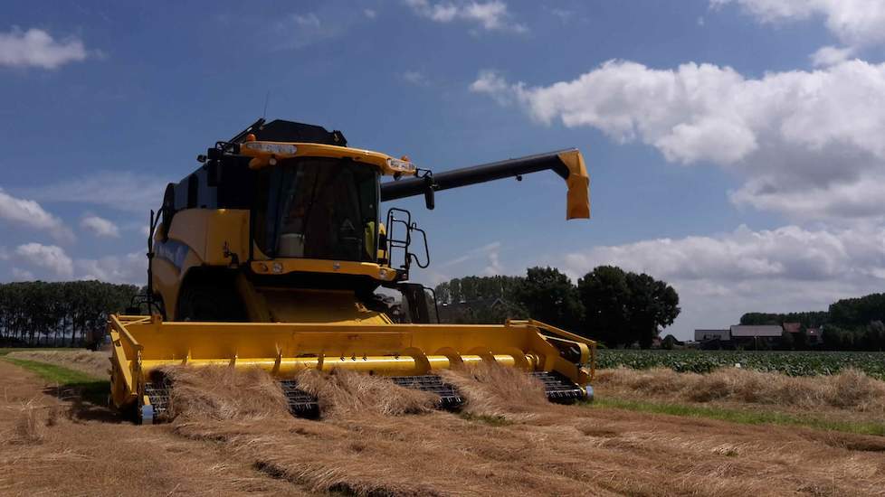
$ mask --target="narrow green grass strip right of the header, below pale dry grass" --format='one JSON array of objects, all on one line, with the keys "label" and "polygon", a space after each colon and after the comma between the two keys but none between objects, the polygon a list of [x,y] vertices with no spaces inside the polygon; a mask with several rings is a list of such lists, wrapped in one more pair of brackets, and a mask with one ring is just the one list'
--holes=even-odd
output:
[{"label": "narrow green grass strip right of the header, below pale dry grass", "polygon": [[671,416],[706,417],[709,419],[730,421],[732,423],[741,423],[744,425],[808,427],[861,435],[885,436],[885,424],[881,423],[833,421],[816,417],[798,417],[777,411],[741,410],[613,398],[597,398],[593,404],[586,405],[595,408],[618,408],[635,412],[668,414]]}]

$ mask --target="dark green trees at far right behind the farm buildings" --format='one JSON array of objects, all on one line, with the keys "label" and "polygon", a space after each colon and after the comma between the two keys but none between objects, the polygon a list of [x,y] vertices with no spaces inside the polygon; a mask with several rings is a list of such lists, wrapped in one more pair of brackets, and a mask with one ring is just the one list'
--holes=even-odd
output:
[{"label": "dark green trees at far right behind the farm buildings", "polygon": [[799,323],[797,333],[788,345],[797,350],[807,348],[808,328],[823,330],[820,348],[831,351],[885,350],[885,294],[843,298],[826,311],[806,313],[747,313],[740,324]]}]

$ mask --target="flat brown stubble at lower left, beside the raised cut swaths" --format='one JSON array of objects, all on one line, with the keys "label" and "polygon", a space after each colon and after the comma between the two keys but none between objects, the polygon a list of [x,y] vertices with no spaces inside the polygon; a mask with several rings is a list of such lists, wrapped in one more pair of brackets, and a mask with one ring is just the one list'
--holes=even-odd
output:
[{"label": "flat brown stubble at lower left, beside the raised cut swaths", "polygon": [[0,495],[299,495],[171,427],[121,423],[0,361]]}]

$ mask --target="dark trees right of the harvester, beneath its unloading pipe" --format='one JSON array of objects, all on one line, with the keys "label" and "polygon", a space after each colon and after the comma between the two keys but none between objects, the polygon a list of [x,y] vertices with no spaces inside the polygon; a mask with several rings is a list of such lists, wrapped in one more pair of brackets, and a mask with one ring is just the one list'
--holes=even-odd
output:
[{"label": "dark trees right of the harvester, beneath its unloading pipe", "polygon": [[609,347],[648,348],[680,313],[672,286],[614,266],[595,267],[577,285],[555,267],[531,267],[525,277],[454,278],[434,291],[443,322],[532,317]]}]

